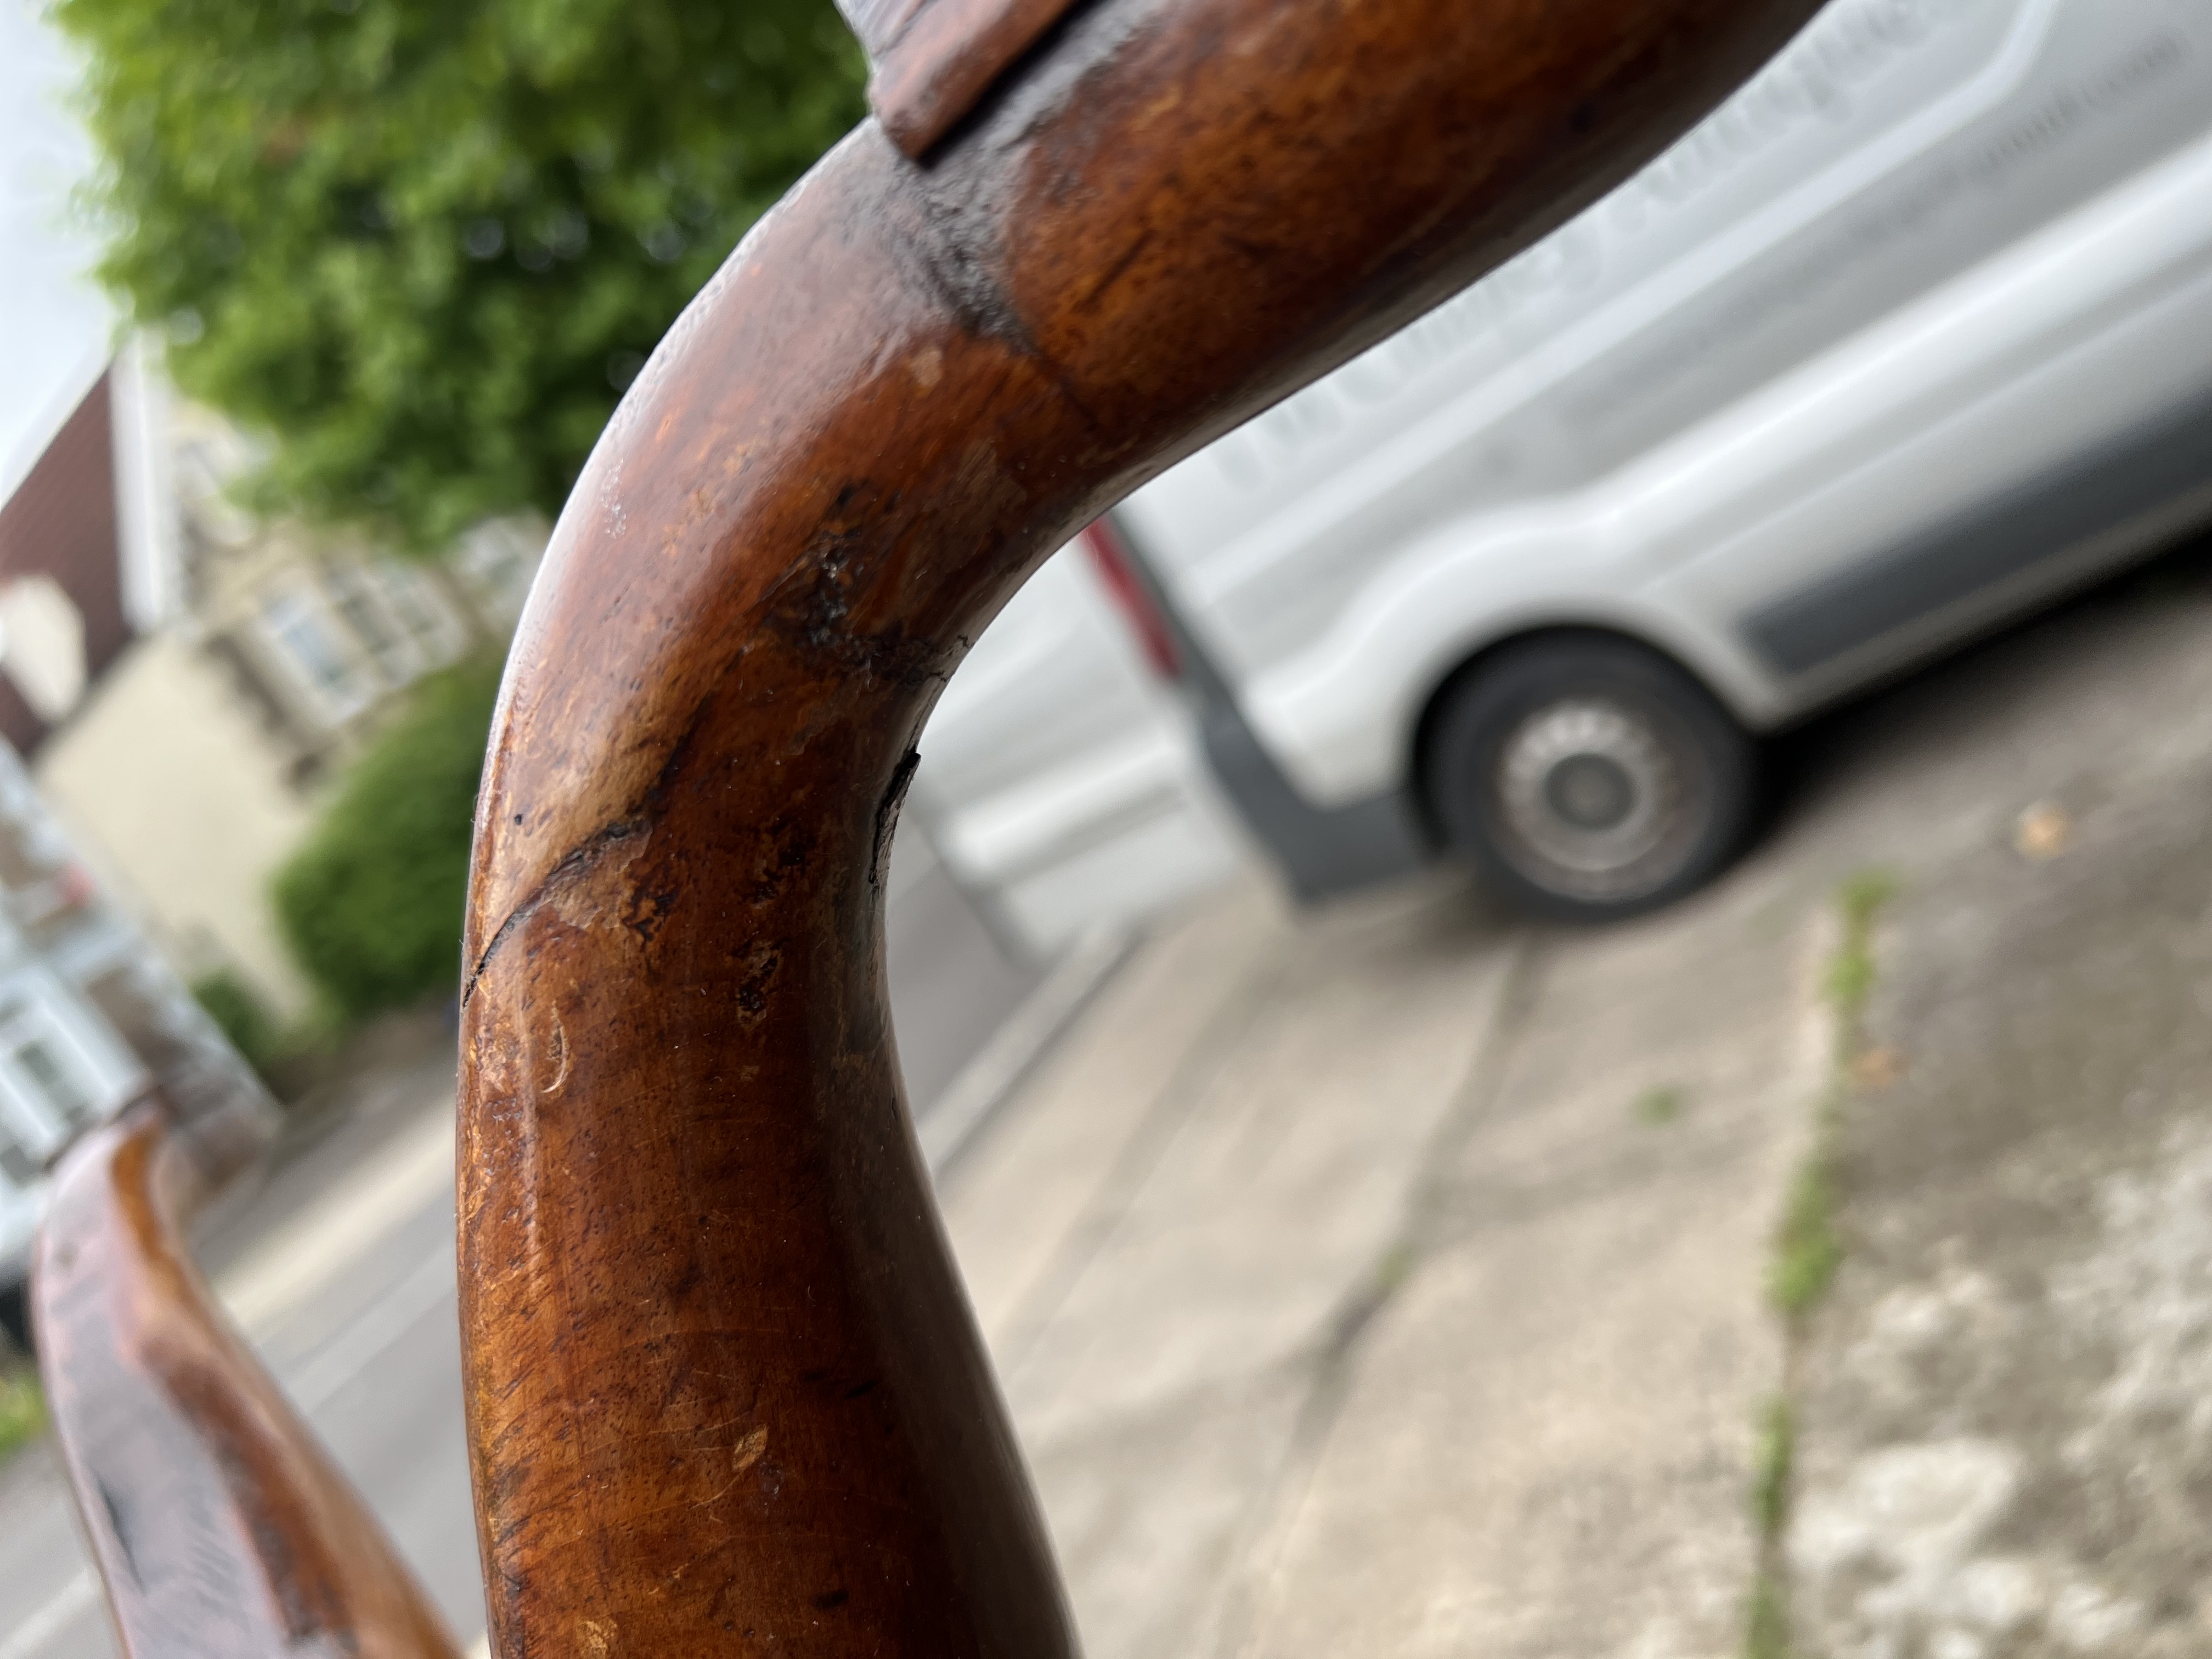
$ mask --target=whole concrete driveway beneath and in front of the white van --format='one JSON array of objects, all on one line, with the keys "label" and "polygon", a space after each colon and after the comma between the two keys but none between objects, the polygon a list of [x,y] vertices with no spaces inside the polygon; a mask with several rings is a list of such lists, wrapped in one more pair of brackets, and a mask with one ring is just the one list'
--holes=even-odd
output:
[{"label": "whole concrete driveway beneath and in front of the white van", "polygon": [[[2000,1046],[1997,1011],[2053,1018],[2048,991],[2015,984],[2044,958],[2015,967],[2000,922],[2057,872],[2106,905],[2095,960],[2112,984],[2174,885],[2095,878],[2139,845],[2068,825],[2148,814],[2168,849],[2208,841],[2212,549],[1776,748],[1785,783],[1763,845],[1628,927],[1515,925],[1451,880],[1318,916],[1256,883],[1219,896],[1144,945],[942,1179],[1091,1659],[1719,1657],[1745,1650],[1754,1586],[1772,1617],[1752,1652],[1792,1650],[1792,1597],[1801,1655],[2044,1652],[1993,1644],[2044,1641],[2046,1624],[2051,1652],[2141,1637],[2157,1597],[2104,1584],[2095,1559],[2035,1579],[2008,1626],[1931,1624],[1922,1582],[1944,1573],[1942,1551],[1973,1555],[1958,1537],[1982,1533],[1958,1533],[1953,1511],[1978,1489],[1971,1471],[1964,1498],[1942,1486],[1942,1458],[1936,1498],[1907,1482],[1933,1504],[1918,1524],[1936,1542],[1891,1559],[1867,1544],[1900,1491],[1880,1458],[1995,1429],[1867,1422],[1823,1367],[1856,1352],[1860,1325],[1898,1316],[1867,1232],[1889,1225],[1885,1206],[1909,1190],[1913,1237],[1949,1237],[1962,1263],[1980,1225],[1922,1179],[1927,1148],[1896,1139],[1913,1110],[1947,1106],[1916,1093],[1885,1033],[1920,1044],[1949,1009],[1955,1079]],[[2212,852],[2197,856],[2212,880]],[[1845,945],[1836,894],[1869,869],[1900,894],[1860,964],[1871,1035],[1838,1031],[1823,995]],[[2172,987],[2188,960],[2199,978],[2161,1009],[2199,991],[2212,1006],[2212,905],[2188,905],[2146,971]],[[1907,929],[1933,931],[1922,958]],[[2172,1044],[2179,1029],[2152,1020],[2128,1040]],[[2161,1141],[2137,1126],[2128,1146],[2150,1150],[2121,1155],[2110,1091],[2077,1086],[2081,1064],[2095,1071],[2084,1055],[2119,1040],[2101,1031],[2073,1031],[2075,1071],[2046,1066],[2035,1115],[1984,1110],[1975,1168],[2002,1164],[2020,1121],[2053,1117],[2077,1157],[2106,1146],[2097,1168],[2121,1183],[2128,1157],[2172,1135],[2194,1137],[2188,1157],[2212,1144],[2208,1084],[2161,1108],[2183,1128]],[[1878,1159],[1869,1137],[1905,1150]],[[1816,1217],[1843,1290],[1785,1321],[1767,1294],[1774,1237],[1816,1157],[1843,1168]],[[2181,1203],[2135,1190],[2073,1214]],[[2201,1265],[2212,1283],[2212,1228],[2190,1237],[2203,1261],[2168,1276]],[[2163,1283],[2139,1279],[2143,1296]],[[2106,1281],[2108,1301],[2132,1294],[2121,1267]],[[2097,1318],[2137,1329],[2157,1312]],[[2101,1376],[2090,1356],[2068,1387]],[[2203,1396],[2190,1413],[2205,1418]],[[2024,1480],[2037,1455],[2008,1442],[2000,1462]],[[2126,1471],[2106,1486],[2124,1493]],[[2183,1486],[2197,1491],[2161,1491]],[[2004,1509],[1958,1524],[1989,1531]],[[2174,1511],[2161,1537],[2199,1520]],[[1856,1553],[1794,1526],[1845,1528]],[[2070,1613],[2053,1610],[2068,1595]],[[2170,1586],[2166,1604],[2172,1624]],[[2172,1650],[2212,1652],[2212,1621],[2190,1630]]]}]

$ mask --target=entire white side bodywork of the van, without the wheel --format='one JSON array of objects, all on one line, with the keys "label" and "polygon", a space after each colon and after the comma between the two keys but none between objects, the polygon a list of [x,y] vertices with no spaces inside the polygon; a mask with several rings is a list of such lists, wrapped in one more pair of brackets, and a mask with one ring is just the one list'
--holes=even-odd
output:
[{"label": "entire white side bodywork of the van, without the wheel", "polygon": [[[1774,606],[1801,595],[1825,613],[1834,593],[1818,584],[1893,555],[1858,588],[1858,626],[1878,630],[1893,619],[1874,595],[1907,566],[1920,588],[1898,604],[1924,615],[1953,602],[1947,582],[1995,593],[2006,560],[2039,555],[1949,546],[2022,487],[1986,445],[1953,451],[1913,522],[1856,542],[1834,518],[1816,538],[1759,526],[1887,465],[1885,449],[1909,453],[1916,422],[1933,431],[2002,396],[2022,363],[2101,327],[2097,305],[2148,303],[2179,265],[2124,272],[2143,279],[2132,294],[2057,276],[2028,296],[2044,336],[1982,358],[1973,341],[1938,341],[1938,361],[1907,376],[1911,396],[1865,383],[1871,343],[1938,296],[1971,314],[1975,281],[1995,281],[2013,250],[2068,226],[2097,234],[2115,192],[2179,166],[2208,126],[2212,9],[2199,0],[1845,0],[1619,192],[1139,491],[1121,518],[1263,748],[1318,805],[1402,787],[1411,723],[1453,653],[1513,626],[1635,633],[1747,723],[1776,723],[1847,675],[1792,668],[1803,650],[1776,653],[1790,624]],[[2194,237],[2212,199],[2179,215]],[[2075,290],[2090,310],[2066,312]],[[2015,301],[1989,290],[1991,305]],[[2039,465],[2108,467],[2181,394],[2212,392],[2212,334],[2161,349],[2161,385],[2137,407],[2095,422],[2044,411],[2055,453]],[[2141,442],[2112,438],[2130,429]],[[2185,491],[2170,476],[2190,465],[2185,436],[2174,445],[2141,458],[2141,489]],[[2097,504],[2141,518],[2119,480]],[[2088,535],[2068,535],[2073,549],[2132,551],[2073,529]],[[1840,635],[1836,653],[1849,672],[1880,657]]]}]

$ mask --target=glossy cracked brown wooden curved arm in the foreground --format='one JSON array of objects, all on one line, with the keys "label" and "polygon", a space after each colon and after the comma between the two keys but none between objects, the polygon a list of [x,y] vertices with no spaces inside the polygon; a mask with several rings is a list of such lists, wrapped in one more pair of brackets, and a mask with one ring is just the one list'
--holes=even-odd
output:
[{"label": "glossy cracked brown wooden curved arm in the foreground", "polygon": [[891,1051],[931,701],[1102,507],[1557,226],[1812,11],[1099,0],[922,161],[856,131],[699,294],[562,515],[478,805],[500,1655],[1075,1652]]}]

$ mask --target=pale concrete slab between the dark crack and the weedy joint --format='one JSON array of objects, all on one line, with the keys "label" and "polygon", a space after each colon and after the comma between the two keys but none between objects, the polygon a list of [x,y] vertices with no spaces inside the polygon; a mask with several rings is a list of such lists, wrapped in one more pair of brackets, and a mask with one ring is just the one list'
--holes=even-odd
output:
[{"label": "pale concrete slab between the dark crack and the weedy joint", "polygon": [[1770,900],[1531,947],[1243,1652],[1734,1650],[1783,1360],[1759,1265],[1827,1064],[1820,911]]}]

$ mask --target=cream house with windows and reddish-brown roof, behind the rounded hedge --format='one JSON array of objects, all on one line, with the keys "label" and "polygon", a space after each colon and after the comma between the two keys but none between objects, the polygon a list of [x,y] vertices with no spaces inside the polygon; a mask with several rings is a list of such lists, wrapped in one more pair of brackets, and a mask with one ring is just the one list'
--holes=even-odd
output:
[{"label": "cream house with windows and reddish-brown roof, behind the rounded hedge", "polygon": [[117,358],[0,507],[0,737],[186,978],[307,1006],[270,876],[427,672],[513,630],[544,533],[447,560],[261,522],[252,447]]}]

